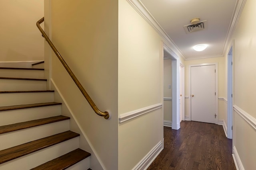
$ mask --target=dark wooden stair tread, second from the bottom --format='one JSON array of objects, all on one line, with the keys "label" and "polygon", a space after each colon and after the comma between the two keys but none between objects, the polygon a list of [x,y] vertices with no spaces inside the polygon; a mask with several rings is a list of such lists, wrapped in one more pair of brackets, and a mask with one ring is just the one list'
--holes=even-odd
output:
[{"label": "dark wooden stair tread, second from the bottom", "polygon": [[78,136],[80,136],[78,133],[74,133],[72,131],[66,131],[63,133],[52,135],[50,137],[45,137],[42,139],[38,139],[36,141],[32,141],[32,142],[28,142],[28,143],[11,147],[8,149],[0,150],[0,164],[19,158],[26,154],[36,152],[46,147],[56,145],[58,143],[67,141],[69,139],[72,139]]}]

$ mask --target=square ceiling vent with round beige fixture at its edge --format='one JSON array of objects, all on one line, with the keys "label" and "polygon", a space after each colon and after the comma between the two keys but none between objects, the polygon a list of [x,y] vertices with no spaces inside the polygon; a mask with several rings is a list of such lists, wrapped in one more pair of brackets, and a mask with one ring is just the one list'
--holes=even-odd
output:
[{"label": "square ceiling vent with round beige fixture at its edge", "polygon": [[185,29],[186,33],[191,33],[194,31],[200,31],[207,27],[207,20],[200,21],[200,18],[193,18],[190,21],[191,24],[184,25],[183,28]]}]

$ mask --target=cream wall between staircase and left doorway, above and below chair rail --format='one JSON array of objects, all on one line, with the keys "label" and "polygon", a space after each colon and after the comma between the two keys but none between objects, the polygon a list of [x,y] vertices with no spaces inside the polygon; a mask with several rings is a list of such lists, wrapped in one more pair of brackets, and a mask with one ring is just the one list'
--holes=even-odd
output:
[{"label": "cream wall between staircase and left doorway, above and below chair rail", "polygon": [[[118,1],[118,114],[163,102],[161,38],[128,4]],[[163,139],[162,108],[119,123],[118,169],[131,170]]]}]

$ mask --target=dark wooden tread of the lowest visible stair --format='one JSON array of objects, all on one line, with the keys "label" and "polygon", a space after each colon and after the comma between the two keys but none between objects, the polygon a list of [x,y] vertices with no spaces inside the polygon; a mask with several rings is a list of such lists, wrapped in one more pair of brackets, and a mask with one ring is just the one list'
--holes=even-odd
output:
[{"label": "dark wooden tread of the lowest visible stair", "polygon": [[90,155],[89,152],[78,148],[31,170],[65,170]]}]

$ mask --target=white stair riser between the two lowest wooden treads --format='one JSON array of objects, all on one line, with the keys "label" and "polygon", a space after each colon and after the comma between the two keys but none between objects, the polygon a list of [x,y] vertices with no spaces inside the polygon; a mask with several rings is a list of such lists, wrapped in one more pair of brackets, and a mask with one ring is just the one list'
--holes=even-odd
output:
[{"label": "white stair riser between the two lowest wooden treads", "polygon": [[78,137],[0,164],[0,170],[29,170],[79,147]]}]

